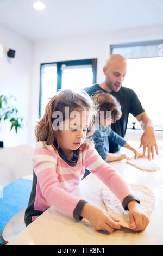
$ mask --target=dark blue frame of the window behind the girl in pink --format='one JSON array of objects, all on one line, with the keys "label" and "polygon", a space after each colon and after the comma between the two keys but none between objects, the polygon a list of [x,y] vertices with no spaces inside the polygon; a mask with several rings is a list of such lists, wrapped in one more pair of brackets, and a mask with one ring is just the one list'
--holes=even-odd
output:
[{"label": "dark blue frame of the window behind the girl in pink", "polygon": [[61,66],[79,66],[79,65],[91,65],[93,71],[93,84],[97,79],[97,58],[94,59],[79,59],[79,60],[66,60],[65,62],[49,62],[40,64],[40,93],[39,93],[39,118],[41,117],[41,102],[42,102],[42,71],[46,65],[57,65],[57,91],[61,89],[62,83],[62,70]]}]

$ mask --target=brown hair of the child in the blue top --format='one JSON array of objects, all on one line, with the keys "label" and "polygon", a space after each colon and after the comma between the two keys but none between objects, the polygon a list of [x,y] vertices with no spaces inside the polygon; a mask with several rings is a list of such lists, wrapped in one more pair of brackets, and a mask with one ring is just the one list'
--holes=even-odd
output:
[{"label": "brown hair of the child in the blue top", "polygon": [[107,111],[111,112],[111,118],[114,123],[121,118],[121,105],[111,94],[98,90],[93,94],[92,99],[95,104],[99,105],[99,114],[104,112],[104,118],[107,116]]}]

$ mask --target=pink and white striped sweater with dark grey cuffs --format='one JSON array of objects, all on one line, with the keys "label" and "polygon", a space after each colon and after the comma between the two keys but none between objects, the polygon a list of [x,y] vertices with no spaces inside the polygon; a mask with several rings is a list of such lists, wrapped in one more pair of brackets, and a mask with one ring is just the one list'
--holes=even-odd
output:
[{"label": "pink and white striped sweater with dark grey cuffs", "polygon": [[40,141],[36,143],[33,162],[33,186],[24,217],[26,225],[51,205],[80,220],[80,212],[87,202],[68,192],[78,187],[85,168],[110,188],[124,209],[127,210],[127,204],[131,200],[139,202],[122,176],[99,156],[92,145],[85,149],[80,147],[74,154],[74,159],[68,161],[59,150],[55,150],[52,145],[43,146]]}]

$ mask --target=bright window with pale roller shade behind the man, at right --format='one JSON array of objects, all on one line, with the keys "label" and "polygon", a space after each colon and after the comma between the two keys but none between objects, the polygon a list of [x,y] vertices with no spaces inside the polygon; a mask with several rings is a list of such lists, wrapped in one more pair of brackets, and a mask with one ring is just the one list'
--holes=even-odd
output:
[{"label": "bright window with pale roller shade behind the man, at right", "polygon": [[[111,45],[110,50],[111,54],[121,54],[127,59],[127,74],[123,86],[135,91],[155,129],[163,130],[163,41]],[[133,126],[140,129],[137,119],[129,114],[127,127],[131,129]]]}]

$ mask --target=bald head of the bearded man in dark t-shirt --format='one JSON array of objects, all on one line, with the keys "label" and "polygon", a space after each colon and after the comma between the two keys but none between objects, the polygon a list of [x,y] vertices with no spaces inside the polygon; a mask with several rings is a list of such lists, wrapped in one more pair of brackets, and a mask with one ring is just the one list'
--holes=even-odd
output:
[{"label": "bald head of the bearded man in dark t-shirt", "polygon": [[120,54],[112,54],[103,68],[106,76],[102,84],[108,92],[118,92],[121,89],[127,71],[126,59]]}]

